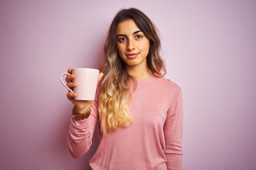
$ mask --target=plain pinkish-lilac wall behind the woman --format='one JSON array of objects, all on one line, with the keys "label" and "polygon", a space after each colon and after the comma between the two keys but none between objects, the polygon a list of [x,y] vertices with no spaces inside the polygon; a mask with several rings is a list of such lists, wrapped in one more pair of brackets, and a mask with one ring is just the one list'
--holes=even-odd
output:
[{"label": "plain pinkish-lilac wall behind the woman", "polygon": [[[98,68],[107,28],[137,7],[161,34],[183,89],[184,169],[255,169],[256,1],[0,1],[0,169],[89,169],[66,144],[72,104],[59,76]],[[127,139],[129,140],[129,139]],[[134,160],[136,161],[136,160]]]}]

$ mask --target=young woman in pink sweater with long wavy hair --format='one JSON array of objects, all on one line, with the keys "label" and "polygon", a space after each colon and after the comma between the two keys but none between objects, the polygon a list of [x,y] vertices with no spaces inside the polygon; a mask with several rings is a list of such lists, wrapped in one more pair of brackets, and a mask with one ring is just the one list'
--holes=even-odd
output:
[{"label": "young woman in pink sweater with long wavy hair", "polygon": [[[164,78],[154,24],[136,8],[119,11],[104,49],[95,100],[75,101],[76,94],[67,94],[75,105],[70,153],[78,158],[90,149],[99,120],[100,145],[90,160],[92,169],[182,169],[181,88]],[[77,86],[74,78],[66,78],[70,88]]]}]

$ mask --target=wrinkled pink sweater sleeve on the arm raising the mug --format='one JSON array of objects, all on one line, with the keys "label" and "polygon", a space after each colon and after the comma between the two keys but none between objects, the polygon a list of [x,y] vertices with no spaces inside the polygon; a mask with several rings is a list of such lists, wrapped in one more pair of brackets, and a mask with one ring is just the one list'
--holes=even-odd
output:
[{"label": "wrinkled pink sweater sleeve on the arm raising the mug", "polygon": [[89,118],[84,120],[71,119],[68,131],[68,149],[73,158],[82,157],[92,145],[92,135],[95,131],[98,116],[97,96],[92,102]]}]

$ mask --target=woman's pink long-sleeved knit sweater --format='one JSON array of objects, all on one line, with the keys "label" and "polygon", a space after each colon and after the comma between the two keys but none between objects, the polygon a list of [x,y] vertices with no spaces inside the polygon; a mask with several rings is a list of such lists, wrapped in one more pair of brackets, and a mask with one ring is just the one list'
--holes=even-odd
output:
[{"label": "woman's pink long-sleeved knit sweater", "polygon": [[[92,144],[98,118],[97,96],[85,120],[71,120],[68,147],[74,158]],[[181,88],[173,81],[152,75],[137,80],[129,104],[132,125],[106,136],[90,160],[95,170],[182,169],[183,103]]]}]

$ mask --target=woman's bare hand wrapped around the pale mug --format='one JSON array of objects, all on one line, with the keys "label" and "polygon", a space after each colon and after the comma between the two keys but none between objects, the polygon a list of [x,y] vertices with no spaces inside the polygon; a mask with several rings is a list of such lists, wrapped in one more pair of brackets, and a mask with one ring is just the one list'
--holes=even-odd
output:
[{"label": "woman's bare hand wrapped around the pale mug", "polygon": [[[73,89],[76,86],[78,86],[78,84],[75,84],[73,82],[73,79],[75,79],[75,74],[72,74],[72,69],[70,67],[68,68],[68,73],[69,75],[65,78],[65,81],[67,82],[67,86],[70,89]],[[100,80],[102,79],[102,76],[103,76],[103,73],[100,72],[97,83],[100,82]],[[71,91],[68,91],[68,94],[67,94],[68,100],[70,100],[75,105],[76,111],[78,113],[86,113],[87,111],[89,111],[90,107],[92,106],[92,101],[75,101],[74,97],[76,95],[77,94],[72,93]]]}]

